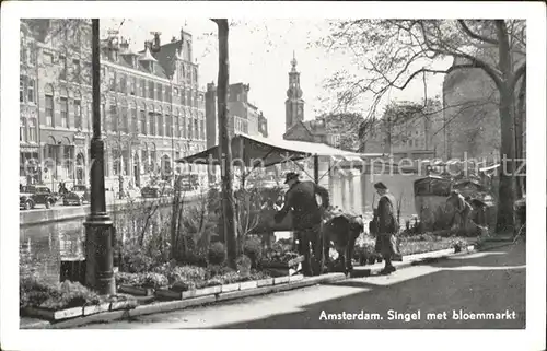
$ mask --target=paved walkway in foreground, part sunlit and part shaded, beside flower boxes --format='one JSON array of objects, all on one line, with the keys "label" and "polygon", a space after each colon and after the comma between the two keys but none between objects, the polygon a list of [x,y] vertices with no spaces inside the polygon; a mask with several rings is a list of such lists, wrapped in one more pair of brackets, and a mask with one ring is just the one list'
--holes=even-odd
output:
[{"label": "paved walkway in foreground, part sunlit and part shaded, beside flower boxes", "polygon": [[[83,328],[522,329],[525,326],[525,247],[517,244],[412,266],[392,276],[347,279]],[[461,311],[467,315],[499,313],[508,318],[455,318]],[[342,313],[361,312],[381,318],[337,319]],[[419,318],[412,319],[412,314],[418,312]],[[429,313],[434,313],[435,318],[428,316]]]}]

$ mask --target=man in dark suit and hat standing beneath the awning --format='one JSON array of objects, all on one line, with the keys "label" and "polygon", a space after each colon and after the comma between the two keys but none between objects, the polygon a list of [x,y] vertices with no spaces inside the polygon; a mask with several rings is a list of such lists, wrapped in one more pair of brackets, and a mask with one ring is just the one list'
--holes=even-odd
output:
[{"label": "man in dark suit and hat standing beneath the awning", "polygon": [[286,176],[284,184],[289,185],[289,190],[284,195],[283,208],[276,213],[276,222],[281,222],[283,218],[292,210],[292,226],[294,234],[299,238],[299,254],[304,256],[302,269],[305,276],[312,276],[312,260],[310,256],[310,244],[314,253],[314,269],[316,273],[321,273],[321,257],[322,257],[322,209],[317,204],[316,196],[321,196],[323,209],[330,206],[330,200],[327,189],[306,180],[300,182],[300,175],[294,172],[289,172]]}]

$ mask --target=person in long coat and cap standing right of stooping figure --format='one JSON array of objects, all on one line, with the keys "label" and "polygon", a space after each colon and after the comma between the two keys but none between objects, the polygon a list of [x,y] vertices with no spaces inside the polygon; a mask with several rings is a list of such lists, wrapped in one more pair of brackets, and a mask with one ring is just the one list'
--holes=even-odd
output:
[{"label": "person in long coat and cap standing right of stooping figure", "polygon": [[385,267],[381,273],[391,274],[396,270],[392,260],[401,260],[396,237],[399,230],[399,223],[395,217],[396,202],[395,197],[382,182],[374,184],[374,189],[380,196],[373,220],[374,231],[377,233],[375,248],[385,261]]}]

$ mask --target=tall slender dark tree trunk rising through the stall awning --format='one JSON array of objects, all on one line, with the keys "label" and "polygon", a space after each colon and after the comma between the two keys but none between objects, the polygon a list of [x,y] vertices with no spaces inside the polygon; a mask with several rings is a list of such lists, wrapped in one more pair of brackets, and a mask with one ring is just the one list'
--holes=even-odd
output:
[{"label": "tall slender dark tree trunk rising through the stall awning", "polygon": [[229,58],[228,58],[228,20],[213,20],[219,26],[219,83],[217,89],[218,94],[218,110],[219,110],[219,161],[221,163],[222,177],[222,209],[224,237],[228,251],[228,265],[231,268],[236,268],[235,260],[237,257],[236,242],[236,222],[234,211],[234,194],[232,185],[232,148],[231,140],[228,133],[228,89],[229,89]]}]

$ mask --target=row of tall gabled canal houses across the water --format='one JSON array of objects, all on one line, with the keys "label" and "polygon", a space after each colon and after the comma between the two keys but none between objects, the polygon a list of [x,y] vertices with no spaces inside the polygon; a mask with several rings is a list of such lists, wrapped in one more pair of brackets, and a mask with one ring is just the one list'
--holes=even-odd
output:
[{"label": "row of tall gabled canal houses across the water", "polygon": [[[21,67],[27,68],[21,71],[21,163],[28,164],[27,154],[37,156],[39,172],[33,182],[54,189],[61,180],[86,183],[92,134],[91,24],[30,20],[22,23],[23,28],[22,40],[34,46],[22,42],[21,49],[32,50],[26,57],[34,57],[35,63],[22,56]],[[144,46],[137,54],[123,38],[109,36],[101,43],[107,188],[116,188],[120,175],[126,185],[141,187],[152,175],[168,174],[173,160],[206,147],[205,94],[198,90],[191,35],[181,31],[181,37],[161,46],[158,54],[151,52],[150,42]],[[36,89],[31,93],[33,77]],[[38,117],[35,125],[33,109]],[[33,141],[34,130],[37,141]],[[22,167],[21,175],[25,173]]]}]

